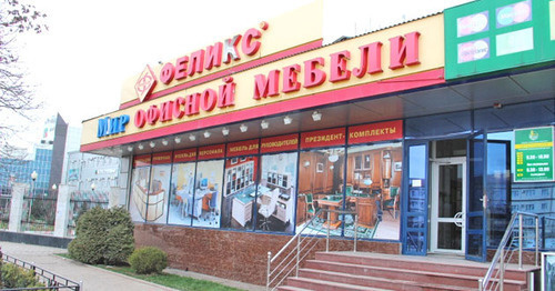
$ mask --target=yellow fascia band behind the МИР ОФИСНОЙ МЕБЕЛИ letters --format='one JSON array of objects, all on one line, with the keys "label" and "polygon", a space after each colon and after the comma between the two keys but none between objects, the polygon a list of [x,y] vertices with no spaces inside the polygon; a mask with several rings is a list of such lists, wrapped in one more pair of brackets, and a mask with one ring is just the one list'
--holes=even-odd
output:
[{"label": "yellow fascia band behind the \u041c\u0418\u0420 \u041e\u0424\u0418\u0421\u041d\u041e\u0419 \u041c\u0415\u0411\u0415\u041b\u0418 letters", "polygon": [[[301,13],[299,16],[301,19],[303,18],[303,14]],[[283,22],[283,21],[282,21]],[[273,48],[272,43],[273,37],[278,38],[278,41],[275,42],[281,42],[285,39],[287,39],[286,36],[283,34],[283,32],[279,33],[280,26],[285,26],[286,23],[282,23],[280,21],[276,22],[269,22],[269,27],[272,29],[275,29],[275,34],[271,34],[274,32],[271,32],[271,29],[269,31],[264,32],[263,38],[260,40],[262,42],[261,46],[261,56],[268,56],[276,52],[279,50],[278,48]],[[299,23],[296,21],[292,21],[291,19],[289,21],[285,21],[287,23]],[[304,23],[304,22],[303,22]],[[287,33],[294,34],[296,37],[304,37],[303,33],[291,33],[291,31],[294,30],[289,30]],[[405,66],[404,68],[400,68],[396,70],[392,70],[389,68],[390,66],[390,39],[394,37],[403,37],[407,33],[411,32],[420,32],[420,41],[418,41],[418,60],[420,64],[414,64],[414,66]],[[266,34],[268,33],[268,34]],[[289,36],[289,34],[287,34]],[[315,34],[311,36],[311,40],[315,38]],[[294,40],[294,42],[300,42],[302,40],[297,39]],[[356,78],[356,77],[351,77],[350,80],[347,81],[340,81],[332,83],[329,81],[330,79],[330,54],[336,53],[340,51],[350,51],[351,53],[351,59],[347,61],[347,69],[353,70],[354,68],[357,68],[360,66],[360,59],[361,59],[361,53],[359,51],[359,47],[369,44],[372,42],[380,41],[383,43],[382,47],[382,69],[383,72],[381,73],[375,73],[375,74],[365,74],[363,78]],[[261,67],[256,67],[246,71],[238,72],[232,74],[233,77],[233,82],[236,84],[235,87],[235,103],[233,107],[228,107],[228,108],[214,108],[211,112],[204,112],[201,110],[199,114],[190,116],[186,117],[184,116],[181,119],[174,118],[171,121],[168,122],[160,122],[158,121],[153,126],[145,124],[143,128],[137,128],[133,124],[134,120],[134,114],[138,110],[142,109],[147,111],[151,106],[157,106],[160,108],[160,104],[165,102],[165,101],[172,101],[175,100],[179,97],[185,97],[191,93],[202,93],[206,89],[213,89],[215,91],[219,91],[219,87],[224,84],[222,79],[216,79],[213,81],[209,81],[205,83],[201,83],[199,86],[178,91],[174,93],[170,93],[167,96],[163,96],[161,98],[157,98],[154,100],[149,100],[143,103],[139,103],[135,106],[132,106],[130,108],[119,110],[105,116],[101,116],[95,119],[87,120],[83,122],[83,134],[82,134],[82,146],[83,144],[91,144],[95,143],[99,141],[105,141],[110,139],[118,139],[121,137],[127,137],[131,134],[135,134],[139,132],[147,132],[151,130],[159,130],[163,129],[165,127],[171,127],[178,123],[183,123],[183,122],[189,122],[193,120],[200,120],[200,119],[205,119],[209,117],[214,117],[219,114],[226,114],[230,112],[236,112],[245,109],[253,109],[256,107],[265,106],[269,103],[274,103],[274,102],[282,102],[286,100],[293,100],[293,99],[300,99],[306,96],[313,96],[313,94],[319,94],[323,92],[330,92],[330,91],[335,91],[340,89],[346,89],[351,87],[357,87],[357,86],[363,86],[372,82],[387,82],[389,79],[393,78],[398,78],[398,77],[406,77],[411,74],[415,74],[418,72],[425,72],[425,71],[431,71],[434,69],[442,69],[444,67],[444,33],[443,33],[443,14],[437,14],[437,16],[432,16],[425,19],[421,19],[417,21],[413,21],[410,23],[392,27],[389,29],[384,29],[374,33],[369,33],[365,36],[361,36],[357,38],[349,39],[346,41],[342,41],[335,44],[331,46],[325,46],[323,48],[307,51],[304,53],[300,53],[296,56],[293,56],[291,58],[282,59],[279,61],[270,62],[266,64],[263,64]],[[258,58],[258,57],[256,57]],[[314,58],[323,58],[325,61],[325,64],[323,67],[319,67],[322,71],[324,71],[327,77],[326,81],[324,81],[321,86],[316,86],[310,89],[305,89],[301,86],[301,90],[295,91],[295,92],[290,92],[290,93],[283,93],[281,92],[280,89],[280,94],[278,97],[268,97],[263,98],[261,100],[254,100],[254,77],[256,74],[264,74],[268,78],[268,74],[272,70],[282,70],[283,68],[292,64],[300,64],[301,66],[301,72],[299,73],[299,81],[301,84],[304,84],[303,80],[303,66],[304,61],[314,59]],[[246,59],[242,61],[249,61]],[[157,77],[160,68],[154,69]],[[212,73],[212,72],[211,72]],[[194,77],[194,76],[193,76]],[[199,76],[204,77],[204,74]],[[280,87],[283,86],[282,83],[282,78],[283,73],[280,77]],[[186,79],[188,81],[191,81],[190,79]],[[134,80],[131,78],[129,82],[125,84],[124,90],[123,90],[123,97],[122,97],[122,102],[129,102],[130,100],[137,99],[137,96],[132,89],[134,86]],[[175,82],[175,81],[174,81]],[[176,84],[176,83],[175,83]],[[170,86],[174,86],[172,82]],[[155,92],[167,89],[168,87],[163,87],[161,82],[157,84]],[[98,120],[110,117],[119,117],[122,114],[128,114],[130,117],[130,122],[125,128],[124,133],[119,133],[119,134],[113,134],[110,137],[103,137],[101,139],[97,138],[97,131],[98,131]],[[119,143],[119,142],[118,142]],[[122,142],[123,143],[123,142]]]}]

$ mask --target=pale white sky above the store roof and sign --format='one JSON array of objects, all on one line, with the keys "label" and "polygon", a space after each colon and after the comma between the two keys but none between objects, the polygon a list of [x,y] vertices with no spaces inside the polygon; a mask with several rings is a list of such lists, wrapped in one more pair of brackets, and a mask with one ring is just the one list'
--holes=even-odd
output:
[{"label": "pale white sky above the store roof and sign", "polygon": [[[33,124],[59,112],[73,127],[118,110],[123,81],[258,27],[313,0],[32,1],[49,31],[20,38],[22,66],[44,103]],[[467,0],[324,0],[324,41],[442,11]],[[29,1],[28,1],[29,2]],[[34,142],[42,127],[22,140]]]}]

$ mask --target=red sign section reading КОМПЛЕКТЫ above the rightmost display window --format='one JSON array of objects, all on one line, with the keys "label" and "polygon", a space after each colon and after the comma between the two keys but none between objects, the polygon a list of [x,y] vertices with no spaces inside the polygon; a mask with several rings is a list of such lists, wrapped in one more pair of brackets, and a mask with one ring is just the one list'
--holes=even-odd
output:
[{"label": "red sign section reading \u041a\u041e\u041c\u041f\u041b\u0415\u041a\u0422\u042b above the rightmost display window", "polygon": [[349,144],[403,138],[403,120],[363,124],[349,128]]}]

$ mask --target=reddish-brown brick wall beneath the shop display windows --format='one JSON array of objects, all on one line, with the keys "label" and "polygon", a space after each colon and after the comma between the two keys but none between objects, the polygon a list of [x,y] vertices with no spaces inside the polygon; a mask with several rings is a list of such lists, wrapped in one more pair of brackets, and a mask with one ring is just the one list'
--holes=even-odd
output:
[{"label": "reddish-brown brick wall beneath the shop display windows", "polygon": [[[137,247],[154,245],[168,253],[172,268],[265,285],[268,252],[278,252],[291,235],[135,224]],[[352,240],[331,240],[331,250],[352,250]],[[401,243],[359,241],[360,251],[401,253]],[[325,250],[321,239],[315,250]],[[310,255],[312,257],[312,255]]]}]

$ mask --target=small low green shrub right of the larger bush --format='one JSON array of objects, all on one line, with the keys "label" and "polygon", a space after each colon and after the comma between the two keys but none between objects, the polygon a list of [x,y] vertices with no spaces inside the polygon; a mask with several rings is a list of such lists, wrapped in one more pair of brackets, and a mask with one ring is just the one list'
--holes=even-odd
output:
[{"label": "small low green shrub right of the larger bush", "polygon": [[139,274],[161,273],[168,267],[168,254],[158,248],[144,247],[129,257],[129,264]]}]

